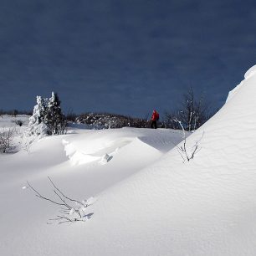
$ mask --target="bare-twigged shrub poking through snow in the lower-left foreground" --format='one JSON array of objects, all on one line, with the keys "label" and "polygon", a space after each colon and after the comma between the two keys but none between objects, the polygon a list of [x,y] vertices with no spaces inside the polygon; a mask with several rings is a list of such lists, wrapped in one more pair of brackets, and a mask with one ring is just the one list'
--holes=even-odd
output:
[{"label": "bare-twigged shrub poking through snow in the lower-left foreground", "polygon": [[49,221],[55,221],[59,224],[85,222],[93,215],[93,213],[85,213],[86,208],[89,207],[91,204],[90,200],[83,200],[80,202],[78,200],[74,200],[73,198],[65,196],[64,193],[61,192],[58,187],[56,187],[51,178],[48,178],[51,186],[54,189],[54,195],[58,199],[44,197],[29,182],[27,182],[28,187],[23,187],[23,189],[30,188],[33,190],[33,192],[35,192],[36,197],[39,197],[43,200],[59,206],[59,214],[56,216],[56,218],[50,218]]}]

